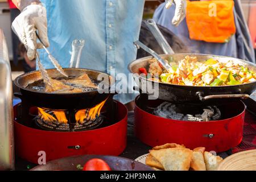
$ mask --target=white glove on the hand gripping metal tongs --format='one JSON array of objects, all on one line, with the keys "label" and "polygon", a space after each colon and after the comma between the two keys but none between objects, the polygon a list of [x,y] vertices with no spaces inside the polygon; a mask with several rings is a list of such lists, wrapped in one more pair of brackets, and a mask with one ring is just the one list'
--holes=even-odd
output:
[{"label": "white glove on the hand gripping metal tongs", "polygon": [[13,21],[12,28],[26,47],[30,60],[35,59],[36,49],[42,48],[42,44],[36,42],[36,30],[44,46],[49,46],[46,8],[42,5],[29,5],[24,8]]}]

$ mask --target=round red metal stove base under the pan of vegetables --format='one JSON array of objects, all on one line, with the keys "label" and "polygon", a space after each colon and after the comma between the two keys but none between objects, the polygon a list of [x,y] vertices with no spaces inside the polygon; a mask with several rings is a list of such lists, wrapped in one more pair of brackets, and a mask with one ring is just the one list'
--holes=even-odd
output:
[{"label": "round red metal stove base under the pan of vegetables", "polygon": [[[222,152],[236,147],[242,141],[245,118],[245,105],[242,101],[224,106],[226,112],[235,110],[235,116],[209,122],[177,121],[158,117],[139,107],[139,97],[135,102],[135,135],[151,147],[178,143],[191,149],[205,147],[207,151]],[[152,107],[158,104],[158,100],[148,100],[148,105]]]}]

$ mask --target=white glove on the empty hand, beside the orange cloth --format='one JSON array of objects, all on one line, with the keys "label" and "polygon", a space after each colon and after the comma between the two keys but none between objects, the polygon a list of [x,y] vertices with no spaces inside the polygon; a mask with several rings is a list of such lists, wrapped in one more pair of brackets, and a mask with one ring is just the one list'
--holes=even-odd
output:
[{"label": "white glove on the empty hand, beside the orange cloth", "polygon": [[[173,0],[175,3],[175,14],[174,18],[172,19],[172,24],[178,26],[180,22],[186,16],[186,9],[187,9],[187,0]],[[172,5],[172,0],[166,0],[166,9],[169,9]]]}]

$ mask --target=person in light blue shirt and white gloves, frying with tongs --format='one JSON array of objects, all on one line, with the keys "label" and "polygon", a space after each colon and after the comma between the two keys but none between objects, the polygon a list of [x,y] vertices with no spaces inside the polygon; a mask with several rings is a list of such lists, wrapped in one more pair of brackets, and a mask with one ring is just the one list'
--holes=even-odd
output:
[{"label": "person in light blue shirt and white gloves, frying with tongs", "polygon": [[[170,0],[168,0],[170,1]],[[49,47],[63,68],[69,66],[72,41],[84,39],[80,68],[94,69],[114,75],[128,75],[127,65],[135,60],[144,0],[13,0],[22,12],[13,22],[13,30],[34,59],[38,48],[35,31]],[[185,0],[174,0],[174,24],[184,18]],[[45,68],[53,68],[47,53],[39,51]],[[117,78],[118,79],[118,78]],[[127,79],[123,85],[131,90]],[[118,94],[117,100],[127,104],[135,94]]]}]

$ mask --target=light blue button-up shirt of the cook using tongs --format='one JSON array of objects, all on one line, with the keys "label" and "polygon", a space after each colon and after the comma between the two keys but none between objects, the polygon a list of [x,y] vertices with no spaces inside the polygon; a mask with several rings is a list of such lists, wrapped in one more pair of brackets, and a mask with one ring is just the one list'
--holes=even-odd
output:
[{"label": "light blue button-up shirt of the cook using tongs", "polygon": [[[144,0],[42,0],[47,9],[49,51],[62,67],[69,67],[72,41],[84,39],[80,68],[128,75],[127,65],[135,60]],[[53,68],[44,50],[40,57]],[[125,80],[123,80],[125,81]],[[131,85],[127,86],[131,89]],[[127,103],[134,94],[120,94]]]}]

